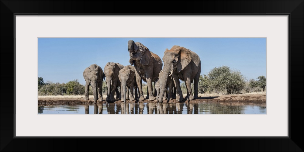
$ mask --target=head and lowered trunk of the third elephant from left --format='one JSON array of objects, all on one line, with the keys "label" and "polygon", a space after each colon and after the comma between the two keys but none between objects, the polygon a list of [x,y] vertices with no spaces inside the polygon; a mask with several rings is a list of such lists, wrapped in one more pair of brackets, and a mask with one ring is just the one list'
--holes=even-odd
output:
[{"label": "head and lowered trunk of the third elephant from left", "polygon": [[[134,78],[135,78],[135,72],[132,70],[132,69],[121,69],[119,71],[119,74],[118,74],[118,78],[120,80],[120,83],[121,83],[121,87],[122,87],[122,90],[123,90],[123,102],[126,103],[126,98],[127,96],[129,95],[129,93],[126,94],[126,86],[131,86],[131,89],[133,90],[133,87],[132,85],[134,86]],[[136,90],[135,90],[136,91]],[[131,92],[133,93],[133,91]],[[133,98],[134,100],[134,98]]]}]

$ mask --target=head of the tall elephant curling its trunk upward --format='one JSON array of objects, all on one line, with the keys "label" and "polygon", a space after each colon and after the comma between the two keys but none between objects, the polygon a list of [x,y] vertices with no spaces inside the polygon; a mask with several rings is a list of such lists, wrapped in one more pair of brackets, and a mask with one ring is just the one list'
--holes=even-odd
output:
[{"label": "head of the tall elephant curling its trunk upward", "polygon": [[134,42],[133,40],[128,41],[128,51],[130,53],[130,64],[133,65],[134,61],[139,61],[140,64],[150,65],[152,64],[153,57],[150,50],[145,47],[142,43]]}]

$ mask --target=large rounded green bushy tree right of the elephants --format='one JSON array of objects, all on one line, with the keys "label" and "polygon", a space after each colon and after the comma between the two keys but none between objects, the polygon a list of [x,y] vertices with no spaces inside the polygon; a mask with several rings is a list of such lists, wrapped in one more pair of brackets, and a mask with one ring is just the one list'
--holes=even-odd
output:
[{"label": "large rounded green bushy tree right of the elephants", "polygon": [[245,78],[240,71],[231,71],[229,66],[215,67],[208,73],[209,86],[227,94],[240,92],[245,87]]}]

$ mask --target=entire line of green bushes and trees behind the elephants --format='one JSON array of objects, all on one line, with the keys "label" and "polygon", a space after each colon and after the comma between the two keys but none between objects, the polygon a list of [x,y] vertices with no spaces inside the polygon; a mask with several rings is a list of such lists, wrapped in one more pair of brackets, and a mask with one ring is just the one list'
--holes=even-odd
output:
[{"label": "entire line of green bushes and trees behind the elephants", "polygon": [[[187,93],[185,82],[181,81],[181,91]],[[154,85],[154,84],[153,84]],[[191,84],[194,91],[194,84]],[[153,86],[154,88],[154,86]],[[264,92],[266,88],[265,76],[259,76],[257,80],[249,81],[237,70],[231,70],[229,66],[215,67],[207,75],[200,75],[198,83],[199,94],[219,93],[238,94],[250,92]],[[120,91],[120,89],[119,89]],[[38,78],[38,95],[84,95],[85,85],[81,85],[78,79],[65,83],[43,82],[43,78]],[[107,93],[105,81],[102,84],[102,93]],[[147,85],[143,83],[143,94],[147,95]],[[90,87],[89,95],[93,95]]]}]

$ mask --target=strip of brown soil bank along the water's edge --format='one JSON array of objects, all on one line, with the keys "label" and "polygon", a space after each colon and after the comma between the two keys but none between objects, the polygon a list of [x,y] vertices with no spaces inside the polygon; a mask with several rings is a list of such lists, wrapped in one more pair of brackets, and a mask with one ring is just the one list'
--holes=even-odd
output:
[{"label": "strip of brown soil bank along the water's edge", "polygon": [[[126,103],[156,103],[157,101],[129,101]],[[163,100],[164,103],[178,103],[175,99],[170,101]],[[237,95],[214,95],[214,96],[201,96],[194,100],[183,100],[185,103],[197,103],[197,102],[255,102],[266,103],[266,94],[237,94]],[[83,98],[38,98],[38,105],[72,105],[72,104],[88,104],[94,103],[94,100],[83,100]],[[106,103],[106,101],[97,101],[97,103]],[[120,100],[116,100],[110,103],[121,103]]]}]

